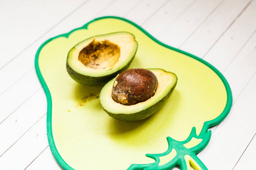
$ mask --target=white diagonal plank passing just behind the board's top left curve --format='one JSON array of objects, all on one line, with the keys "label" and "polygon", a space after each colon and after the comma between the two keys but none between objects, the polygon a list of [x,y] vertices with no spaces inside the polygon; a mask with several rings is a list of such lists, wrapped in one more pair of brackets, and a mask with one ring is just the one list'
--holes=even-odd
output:
[{"label": "white diagonal plank passing just behind the board's top left curve", "polygon": [[[108,5],[109,1],[89,1],[85,6],[74,12],[71,16],[60,22],[51,31],[47,32],[39,40],[33,42],[29,48],[25,49],[8,65],[0,69],[0,79],[5,83],[0,83],[0,95],[14,84],[20,77],[27,74],[34,67],[35,54],[39,46],[44,41],[51,37],[67,33],[72,29],[81,27],[86,22],[96,18],[97,13],[100,13]],[[93,6],[93,8],[92,8]],[[81,17],[82,16],[82,17]],[[1,96],[0,96],[1,97]]]}]

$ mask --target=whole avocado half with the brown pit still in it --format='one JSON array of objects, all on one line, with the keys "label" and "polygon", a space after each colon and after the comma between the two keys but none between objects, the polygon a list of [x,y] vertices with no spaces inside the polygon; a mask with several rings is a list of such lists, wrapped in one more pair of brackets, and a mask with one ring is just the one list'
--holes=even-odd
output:
[{"label": "whole avocado half with the brown pit still in it", "polygon": [[176,84],[177,76],[163,69],[129,69],[105,84],[100,103],[117,120],[143,120],[164,105]]}]

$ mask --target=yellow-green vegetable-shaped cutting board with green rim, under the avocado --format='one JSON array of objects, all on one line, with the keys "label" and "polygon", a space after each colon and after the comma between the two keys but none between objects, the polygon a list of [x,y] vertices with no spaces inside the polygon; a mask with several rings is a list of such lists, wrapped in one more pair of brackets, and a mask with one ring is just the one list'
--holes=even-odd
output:
[{"label": "yellow-green vegetable-shaped cutting board with green rim, under the avocado", "polygon": [[[83,86],[66,70],[67,54],[78,42],[119,31],[138,41],[130,68],[160,68],[178,78],[163,107],[142,121],[110,117],[100,104],[102,86]],[[210,140],[209,127],[232,105],[229,84],[212,65],[123,18],[97,18],[47,40],[36,53],[35,67],[47,96],[49,146],[64,169],[207,169],[196,154]]]}]

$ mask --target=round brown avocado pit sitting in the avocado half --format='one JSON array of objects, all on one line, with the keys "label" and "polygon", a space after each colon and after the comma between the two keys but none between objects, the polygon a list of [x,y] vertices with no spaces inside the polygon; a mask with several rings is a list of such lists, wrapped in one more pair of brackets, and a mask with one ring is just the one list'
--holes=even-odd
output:
[{"label": "round brown avocado pit sitting in the avocado half", "polygon": [[112,98],[123,105],[134,105],[154,96],[158,79],[147,69],[129,69],[115,78]]}]

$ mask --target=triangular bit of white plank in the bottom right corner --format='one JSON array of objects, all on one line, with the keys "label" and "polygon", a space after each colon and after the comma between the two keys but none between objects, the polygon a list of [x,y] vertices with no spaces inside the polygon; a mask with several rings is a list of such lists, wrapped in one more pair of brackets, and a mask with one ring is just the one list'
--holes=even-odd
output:
[{"label": "triangular bit of white plank in the bottom right corner", "polygon": [[[255,133],[256,134],[256,133]],[[249,143],[239,162],[234,167],[234,170],[253,169],[256,162],[256,137]]]}]

